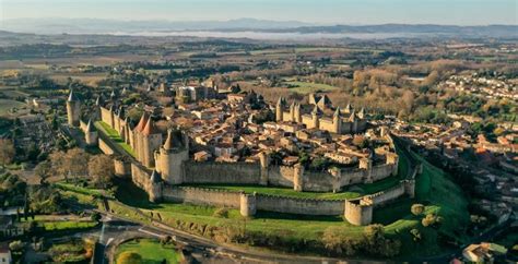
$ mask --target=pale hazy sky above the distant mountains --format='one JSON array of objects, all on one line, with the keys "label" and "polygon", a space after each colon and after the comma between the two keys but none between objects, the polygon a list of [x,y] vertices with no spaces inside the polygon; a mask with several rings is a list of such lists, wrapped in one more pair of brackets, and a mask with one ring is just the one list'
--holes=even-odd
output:
[{"label": "pale hazy sky above the distant mountains", "polygon": [[0,20],[232,20],[340,24],[517,24],[518,0],[0,0]]}]

